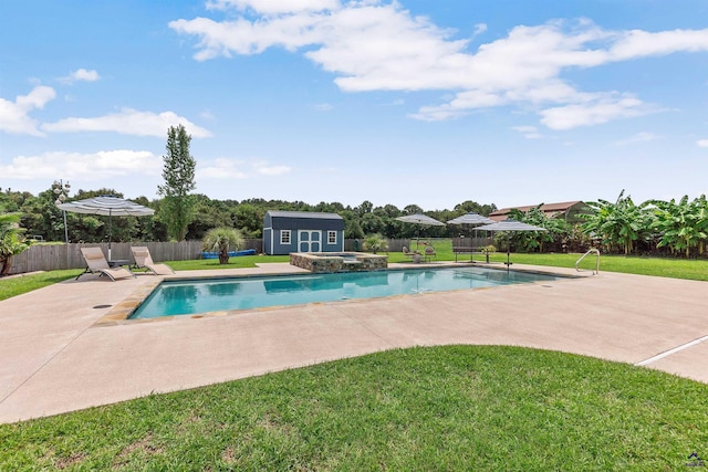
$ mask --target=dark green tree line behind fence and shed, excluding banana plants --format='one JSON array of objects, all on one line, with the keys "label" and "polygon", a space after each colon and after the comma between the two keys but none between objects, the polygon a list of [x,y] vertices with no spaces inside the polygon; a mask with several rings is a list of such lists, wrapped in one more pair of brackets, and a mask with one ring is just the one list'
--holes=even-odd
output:
[{"label": "dark green tree line behind fence and shed, excluding banana plants", "polygon": [[[77,190],[67,201],[82,200],[101,195],[123,197],[116,189]],[[465,201],[452,210],[424,211],[416,204],[403,209],[394,204],[375,207],[371,201],[363,201],[356,207],[340,202],[320,202],[310,204],[304,201],[266,200],[261,198],[237,200],[216,200],[205,195],[191,195],[192,218],[186,225],[183,238],[169,234],[168,216],[164,209],[166,198],[149,200],[146,197],[133,198],[132,201],[149,207],[155,211],[152,217],[119,217],[112,220],[112,239],[117,242],[129,241],[169,241],[202,240],[212,228],[235,228],[246,238],[261,238],[263,219],[269,210],[280,211],[316,211],[337,213],[344,219],[344,237],[363,239],[367,234],[378,233],[385,238],[415,238],[418,229],[415,224],[396,221],[395,218],[426,213],[438,221],[448,221],[467,212],[489,214],[497,210],[494,204],[480,204]],[[44,241],[64,241],[64,219],[62,210],[54,203],[52,188],[34,196],[30,192],[0,189],[0,211],[19,212],[20,225],[24,228],[28,239]],[[96,214],[66,212],[66,227],[70,242],[102,242],[107,234],[108,218]],[[448,238],[465,229],[448,227],[426,227],[420,229],[428,238]],[[39,237],[39,238],[38,238]]]}]

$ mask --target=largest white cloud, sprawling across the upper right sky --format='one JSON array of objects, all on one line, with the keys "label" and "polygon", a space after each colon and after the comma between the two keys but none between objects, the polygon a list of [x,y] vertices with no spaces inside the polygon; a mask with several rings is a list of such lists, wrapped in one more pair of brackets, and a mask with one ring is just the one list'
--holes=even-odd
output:
[{"label": "largest white cloud, sprawling across the upper right sky", "polygon": [[[708,51],[708,29],[646,32],[603,30],[593,22],[550,21],[516,27],[506,38],[468,51],[470,39],[414,17],[397,2],[329,0],[214,0],[228,21],[176,20],[169,28],[198,38],[195,59],[258,54],[269,48],[303,54],[346,92],[442,91],[455,96],[423,106],[412,117],[451,119],[480,107],[541,109],[541,123],[569,129],[656,112],[639,98],[596,98],[616,92],[583,92],[566,70],[676,52]],[[486,31],[475,28],[472,38]]]}]

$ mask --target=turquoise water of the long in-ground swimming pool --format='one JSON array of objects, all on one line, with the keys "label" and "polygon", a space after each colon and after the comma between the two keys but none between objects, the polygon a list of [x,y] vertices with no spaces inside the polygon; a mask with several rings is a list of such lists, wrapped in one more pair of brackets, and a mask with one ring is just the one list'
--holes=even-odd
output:
[{"label": "turquoise water of the long in-ground swimming pool", "polygon": [[483,289],[556,279],[553,275],[496,269],[449,268],[167,281],[145,300],[131,319]]}]

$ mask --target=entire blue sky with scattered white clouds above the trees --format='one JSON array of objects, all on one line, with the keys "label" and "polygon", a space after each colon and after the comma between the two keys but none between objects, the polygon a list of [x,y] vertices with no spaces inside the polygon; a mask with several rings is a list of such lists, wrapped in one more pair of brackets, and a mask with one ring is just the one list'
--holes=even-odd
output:
[{"label": "entire blue sky with scattered white clouds above the trees", "polygon": [[0,6],[0,188],[424,210],[690,198],[705,0],[66,0]]}]

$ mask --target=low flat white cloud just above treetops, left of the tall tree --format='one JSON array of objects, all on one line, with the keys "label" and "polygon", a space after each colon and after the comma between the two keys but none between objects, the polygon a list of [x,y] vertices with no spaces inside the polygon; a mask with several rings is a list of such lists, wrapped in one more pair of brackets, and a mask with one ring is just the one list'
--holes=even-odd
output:
[{"label": "low flat white cloud just above treetops, left of the tall tree", "polygon": [[96,153],[50,151],[37,156],[18,156],[0,166],[0,175],[15,179],[55,179],[98,181],[104,178],[140,172],[160,175],[162,157],[147,150],[100,150]]}]

